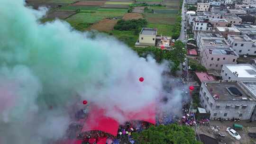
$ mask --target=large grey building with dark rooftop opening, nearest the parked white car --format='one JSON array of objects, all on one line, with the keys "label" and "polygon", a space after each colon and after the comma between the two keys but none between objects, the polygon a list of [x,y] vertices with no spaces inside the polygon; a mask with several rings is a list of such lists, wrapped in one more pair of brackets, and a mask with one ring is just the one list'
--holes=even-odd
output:
[{"label": "large grey building with dark rooftop opening, nearest the parked white car", "polygon": [[210,118],[247,120],[254,117],[256,99],[242,82],[202,82],[199,98],[201,105],[210,113]]}]

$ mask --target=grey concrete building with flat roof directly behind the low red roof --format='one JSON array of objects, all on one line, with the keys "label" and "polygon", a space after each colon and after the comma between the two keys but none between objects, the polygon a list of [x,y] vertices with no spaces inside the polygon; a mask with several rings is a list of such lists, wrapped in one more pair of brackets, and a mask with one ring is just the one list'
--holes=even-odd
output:
[{"label": "grey concrete building with flat roof directly behind the low red roof", "polygon": [[236,64],[238,57],[231,48],[206,46],[201,52],[201,63],[206,69],[221,70],[224,64]]}]

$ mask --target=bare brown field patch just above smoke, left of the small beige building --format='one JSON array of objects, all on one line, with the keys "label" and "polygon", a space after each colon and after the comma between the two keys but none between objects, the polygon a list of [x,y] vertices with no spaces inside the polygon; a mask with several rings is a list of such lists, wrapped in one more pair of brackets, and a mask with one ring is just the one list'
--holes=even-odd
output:
[{"label": "bare brown field patch just above smoke, left of the small beige building", "polygon": [[98,23],[95,23],[91,26],[90,29],[95,29],[98,31],[110,31],[114,29],[118,19],[103,19]]}]

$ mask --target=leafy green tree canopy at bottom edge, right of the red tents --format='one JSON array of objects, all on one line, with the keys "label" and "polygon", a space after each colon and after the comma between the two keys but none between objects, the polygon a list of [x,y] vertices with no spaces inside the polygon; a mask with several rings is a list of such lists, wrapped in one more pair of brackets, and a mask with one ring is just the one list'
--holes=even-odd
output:
[{"label": "leafy green tree canopy at bottom edge, right of the red tents", "polygon": [[195,140],[191,127],[177,124],[151,126],[140,133],[134,133],[137,144],[202,144]]}]

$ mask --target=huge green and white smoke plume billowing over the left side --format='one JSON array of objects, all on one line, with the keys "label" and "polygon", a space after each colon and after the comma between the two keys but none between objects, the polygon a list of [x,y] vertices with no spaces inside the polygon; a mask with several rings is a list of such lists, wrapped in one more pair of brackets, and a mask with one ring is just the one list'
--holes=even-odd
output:
[{"label": "huge green and white smoke plume billowing over the left side", "polygon": [[166,63],[139,58],[113,37],[90,38],[60,20],[41,24],[45,13],[23,0],[1,0],[0,144],[62,137],[83,99],[125,121],[114,107],[134,111],[159,96]]}]

